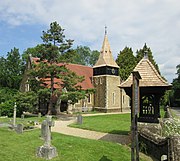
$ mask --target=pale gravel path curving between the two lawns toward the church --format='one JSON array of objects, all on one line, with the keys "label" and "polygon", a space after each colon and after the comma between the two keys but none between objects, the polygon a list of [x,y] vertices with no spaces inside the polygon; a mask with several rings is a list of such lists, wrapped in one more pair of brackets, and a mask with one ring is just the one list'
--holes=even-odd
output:
[{"label": "pale gravel path curving between the two lawns toward the church", "polygon": [[66,135],[78,136],[78,137],[94,139],[94,140],[106,140],[120,144],[128,144],[130,142],[129,136],[126,135],[108,134],[108,133],[68,127],[68,125],[73,122],[76,122],[76,118],[66,121],[65,120],[55,121],[55,126],[52,127],[51,130],[53,132],[58,132]]}]

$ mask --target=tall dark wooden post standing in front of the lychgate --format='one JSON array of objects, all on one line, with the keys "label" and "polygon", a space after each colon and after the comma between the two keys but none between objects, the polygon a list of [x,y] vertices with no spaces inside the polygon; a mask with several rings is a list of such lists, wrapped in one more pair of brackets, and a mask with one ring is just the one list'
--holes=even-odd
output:
[{"label": "tall dark wooden post standing in front of the lychgate", "polygon": [[131,108],[131,161],[139,161],[139,143],[138,143],[138,111],[139,111],[139,72],[132,72],[132,108]]}]

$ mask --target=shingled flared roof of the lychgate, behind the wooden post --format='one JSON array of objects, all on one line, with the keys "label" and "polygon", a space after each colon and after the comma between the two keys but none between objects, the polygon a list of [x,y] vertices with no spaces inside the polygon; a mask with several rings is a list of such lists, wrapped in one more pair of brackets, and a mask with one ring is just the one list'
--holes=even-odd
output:
[{"label": "shingled flared roof of the lychgate, behind the wooden post", "polygon": [[[133,71],[138,71],[141,78],[139,80],[140,87],[168,87],[171,86],[166,80],[164,80],[160,74],[157,72],[153,64],[148,58],[143,58],[136,65]],[[120,87],[131,87],[132,85],[132,74],[128,79],[123,82]]]}]

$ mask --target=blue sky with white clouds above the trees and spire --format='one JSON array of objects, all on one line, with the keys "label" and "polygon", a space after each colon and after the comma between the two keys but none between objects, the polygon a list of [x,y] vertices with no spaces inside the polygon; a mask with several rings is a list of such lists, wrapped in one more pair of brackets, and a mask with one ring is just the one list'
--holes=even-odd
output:
[{"label": "blue sky with white clouds above the trees and spire", "polygon": [[41,44],[42,31],[57,21],[74,48],[101,50],[104,30],[114,59],[124,47],[134,55],[146,43],[161,74],[172,82],[180,64],[179,0],[5,0],[0,1],[0,56],[22,54]]}]

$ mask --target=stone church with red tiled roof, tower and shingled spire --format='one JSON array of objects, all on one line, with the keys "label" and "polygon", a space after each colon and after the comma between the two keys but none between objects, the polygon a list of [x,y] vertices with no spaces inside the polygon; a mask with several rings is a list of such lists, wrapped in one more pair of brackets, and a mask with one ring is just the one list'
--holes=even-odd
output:
[{"label": "stone church with red tiled roof, tower and shingled spire", "polygon": [[[38,63],[39,58],[29,57],[27,62],[27,71],[32,69],[33,63]],[[62,65],[57,64],[58,66]],[[123,89],[118,86],[121,84],[119,76],[119,66],[116,64],[111,52],[107,33],[105,32],[104,41],[100,51],[99,59],[93,67],[83,66],[79,64],[66,64],[66,67],[75,72],[79,76],[84,76],[84,81],[80,83],[82,89],[95,89],[95,93],[83,100],[79,100],[74,105],[63,102],[58,105],[61,112],[86,112],[86,111],[101,111],[101,112],[124,112],[130,110],[130,99]],[[54,80],[54,89],[62,90],[60,79]],[[46,78],[44,82],[47,88],[50,88],[50,79]],[[59,84],[59,85],[58,85]],[[23,92],[29,91],[28,76],[25,73],[21,83],[20,90]],[[39,112],[46,114],[47,104],[40,104]]]}]

